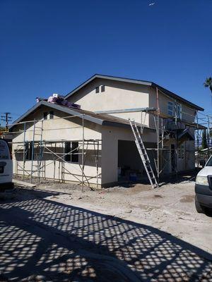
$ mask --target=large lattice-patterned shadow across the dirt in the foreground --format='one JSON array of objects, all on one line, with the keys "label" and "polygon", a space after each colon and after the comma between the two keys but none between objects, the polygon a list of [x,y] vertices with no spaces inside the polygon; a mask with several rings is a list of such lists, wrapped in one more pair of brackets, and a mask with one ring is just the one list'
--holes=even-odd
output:
[{"label": "large lattice-patterned shadow across the dirt in the foreground", "polygon": [[212,281],[207,252],[47,194],[0,202],[0,281]]}]

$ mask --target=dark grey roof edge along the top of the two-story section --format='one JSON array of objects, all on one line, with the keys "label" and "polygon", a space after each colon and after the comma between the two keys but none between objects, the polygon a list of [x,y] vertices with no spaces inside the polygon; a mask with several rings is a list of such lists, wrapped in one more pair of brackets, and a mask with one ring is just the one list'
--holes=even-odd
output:
[{"label": "dark grey roof edge along the top of the two-story section", "polygon": [[165,94],[167,94],[167,96],[172,97],[173,99],[177,99],[178,101],[184,102],[185,104],[188,104],[189,106],[191,106],[194,109],[197,109],[199,111],[204,111],[204,109],[201,108],[201,106],[197,106],[196,104],[189,102],[187,99],[184,99],[184,98],[180,97],[179,95],[165,89],[164,87],[161,87],[160,85],[156,84],[155,82],[146,81],[146,80],[135,80],[135,79],[131,79],[131,78],[119,78],[119,77],[115,77],[115,76],[100,75],[100,74],[93,75],[91,78],[89,78],[88,80],[83,82],[81,85],[76,87],[74,90],[72,90],[71,92],[66,94],[65,99],[69,98],[71,95],[76,93],[82,87],[88,85],[88,83],[95,80],[96,78],[102,78],[102,79],[106,79],[106,80],[116,80],[116,81],[121,81],[121,82],[129,82],[129,83],[134,83],[134,84],[139,84],[139,85],[147,85],[147,86],[151,86],[151,87],[158,87],[158,90],[164,92]]}]

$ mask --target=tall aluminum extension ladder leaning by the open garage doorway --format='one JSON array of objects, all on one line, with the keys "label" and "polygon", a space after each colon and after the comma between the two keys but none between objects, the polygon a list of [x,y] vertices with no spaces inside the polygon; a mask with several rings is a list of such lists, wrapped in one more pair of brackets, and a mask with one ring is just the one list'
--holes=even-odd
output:
[{"label": "tall aluminum extension ladder leaning by the open garage doorway", "polygon": [[153,173],[153,168],[151,167],[151,162],[148,158],[148,154],[146,152],[146,148],[143,145],[143,141],[141,139],[141,135],[139,133],[139,129],[137,128],[136,122],[129,118],[129,124],[131,125],[131,130],[134,133],[136,147],[141,156],[141,161],[143,162],[143,166],[146,170],[148,180],[150,181],[152,188],[158,187],[158,181],[155,178],[155,174]]}]

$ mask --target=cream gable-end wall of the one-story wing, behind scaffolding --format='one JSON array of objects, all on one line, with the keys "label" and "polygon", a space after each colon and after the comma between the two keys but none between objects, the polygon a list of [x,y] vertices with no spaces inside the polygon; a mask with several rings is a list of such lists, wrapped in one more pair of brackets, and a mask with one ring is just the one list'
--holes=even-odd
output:
[{"label": "cream gable-end wall of the one-story wing, behind scaffolding", "polygon": [[[43,117],[43,112],[45,111],[52,111],[52,109],[49,109],[48,107],[42,107],[41,110],[37,111],[35,114],[31,114],[28,116],[28,121],[33,121],[34,118],[36,120],[40,120]],[[43,121],[43,135],[42,140],[45,141],[51,141],[51,140],[82,140],[83,139],[83,128],[82,128],[82,120],[81,118],[62,118],[64,116],[67,116],[65,113],[61,113],[61,111],[55,111],[54,110],[54,118],[48,119]],[[84,137],[85,140],[101,140],[102,134],[101,134],[101,128],[100,125],[96,125],[94,123],[90,123],[88,121],[84,121],[85,127],[84,127]],[[33,123],[26,123],[27,130],[25,133],[25,141],[32,141],[33,140]],[[40,140],[40,129],[41,127],[41,121],[38,121],[36,123],[36,133],[35,140]],[[23,130],[23,125],[18,125],[15,128],[13,128],[13,131]],[[20,153],[14,154],[13,158],[13,173],[16,174],[23,174],[23,171],[18,170],[18,168],[23,168],[23,145],[15,144],[16,142],[23,142],[23,133],[17,133],[16,136],[13,137],[13,153],[15,152],[18,147],[20,148]],[[79,145],[82,145],[82,142],[79,142]],[[82,146],[81,146],[82,148]],[[89,180],[89,183],[96,183],[96,164],[95,164],[95,158],[94,155],[94,145],[88,145],[85,143],[86,148],[86,161],[85,161],[85,168],[84,173],[86,174],[87,178],[91,178]],[[101,155],[101,142],[100,142],[100,155]],[[52,153],[50,150],[54,151],[54,144],[51,145],[50,143],[47,145],[45,149],[45,154],[42,161],[42,166],[44,168],[42,169],[41,176],[45,178],[55,178],[55,179],[65,179],[65,180],[71,180],[71,181],[78,181],[81,180],[81,168],[79,164],[82,163],[81,160],[81,149],[79,151],[79,164],[76,163],[64,163],[64,161],[61,161],[58,159],[54,163],[54,159],[52,158]],[[22,152],[22,153],[21,153]],[[64,154],[64,143],[57,143],[57,154],[63,158],[62,154]],[[33,164],[36,164],[36,161],[33,161]],[[31,164],[32,161],[25,161],[25,169],[30,174],[31,171]],[[64,168],[63,168],[64,166]],[[33,167],[33,170],[35,170],[35,167]],[[65,174],[63,173],[65,171]],[[68,173],[68,171],[70,173]],[[99,158],[99,171],[101,175],[101,158]],[[28,175],[25,173],[25,175]],[[37,176],[37,172],[33,173],[33,176]],[[101,183],[101,178],[98,179],[98,183]]]}]

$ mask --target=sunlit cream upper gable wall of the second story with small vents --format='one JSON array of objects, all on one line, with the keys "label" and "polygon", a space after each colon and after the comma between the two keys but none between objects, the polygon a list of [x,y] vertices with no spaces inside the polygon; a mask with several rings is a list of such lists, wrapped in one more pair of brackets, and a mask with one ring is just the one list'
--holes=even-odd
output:
[{"label": "sunlit cream upper gable wall of the second story with small vents", "polygon": [[[105,92],[95,93],[95,87],[105,85]],[[150,88],[145,85],[95,79],[69,97],[69,102],[81,105],[88,111],[110,111],[117,109],[135,109],[149,106]],[[141,123],[141,113],[112,114],[119,118],[134,118]],[[148,125],[148,115],[142,123]]]}]

